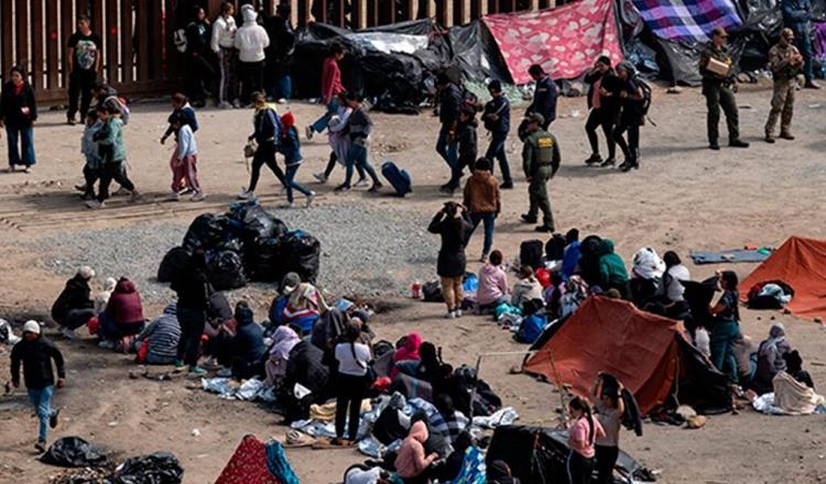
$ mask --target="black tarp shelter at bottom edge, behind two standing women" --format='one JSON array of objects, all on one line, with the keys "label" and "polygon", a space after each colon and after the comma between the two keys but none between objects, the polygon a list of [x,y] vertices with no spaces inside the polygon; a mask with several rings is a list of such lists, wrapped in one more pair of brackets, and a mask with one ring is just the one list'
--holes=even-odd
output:
[{"label": "black tarp shelter at bottom edge, behind two standing women", "polygon": [[[514,477],[532,484],[567,482],[565,460],[569,447],[567,432],[544,427],[501,426],[493,432],[487,462],[502,460]],[[615,465],[617,482],[649,481],[651,473],[623,451]],[[633,480],[631,480],[633,477]]]}]

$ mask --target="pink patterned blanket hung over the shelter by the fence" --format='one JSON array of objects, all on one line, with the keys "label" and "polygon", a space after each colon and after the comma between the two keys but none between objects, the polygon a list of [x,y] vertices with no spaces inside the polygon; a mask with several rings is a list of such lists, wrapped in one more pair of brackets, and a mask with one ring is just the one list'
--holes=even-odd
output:
[{"label": "pink patterned blanket hung over the shelter by the fence", "polygon": [[612,0],[579,0],[533,13],[500,13],[483,19],[518,85],[531,81],[540,64],[553,79],[578,77],[600,55],[622,61]]}]

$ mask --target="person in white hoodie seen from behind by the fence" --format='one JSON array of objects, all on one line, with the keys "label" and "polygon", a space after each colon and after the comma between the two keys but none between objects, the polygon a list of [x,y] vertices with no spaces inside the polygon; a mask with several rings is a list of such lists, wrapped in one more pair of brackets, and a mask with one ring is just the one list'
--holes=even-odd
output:
[{"label": "person in white hoodie seen from behind by the fence", "polygon": [[260,91],[264,84],[264,48],[270,46],[270,36],[258,24],[258,12],[250,4],[241,7],[243,25],[236,32],[235,46],[241,70],[241,99],[250,102],[252,92]]}]

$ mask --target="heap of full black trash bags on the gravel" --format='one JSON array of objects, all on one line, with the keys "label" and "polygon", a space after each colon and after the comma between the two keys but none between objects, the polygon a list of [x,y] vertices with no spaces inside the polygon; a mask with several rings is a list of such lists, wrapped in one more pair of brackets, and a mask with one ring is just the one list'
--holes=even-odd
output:
[{"label": "heap of full black trash bags on the gravel", "polygon": [[216,290],[237,289],[249,280],[280,282],[295,272],[315,284],[322,245],[303,230],[289,230],[258,200],[230,205],[225,215],[203,213],[193,220],[181,246],[157,268],[157,280],[170,283],[195,251],[206,257],[206,274]]}]

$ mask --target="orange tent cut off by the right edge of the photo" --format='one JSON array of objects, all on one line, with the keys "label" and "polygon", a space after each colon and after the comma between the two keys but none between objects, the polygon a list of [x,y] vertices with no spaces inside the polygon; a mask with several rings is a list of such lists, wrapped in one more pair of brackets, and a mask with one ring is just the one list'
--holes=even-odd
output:
[{"label": "orange tent cut off by the right edge of the photo", "polygon": [[802,318],[826,318],[826,241],[793,237],[740,283],[748,300],[754,284],[783,280],[794,289],[786,308]]}]

